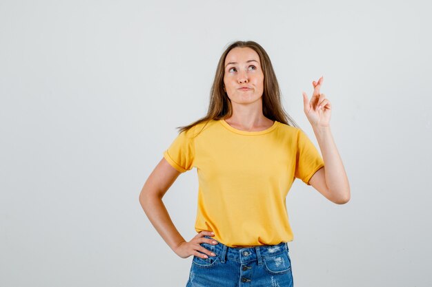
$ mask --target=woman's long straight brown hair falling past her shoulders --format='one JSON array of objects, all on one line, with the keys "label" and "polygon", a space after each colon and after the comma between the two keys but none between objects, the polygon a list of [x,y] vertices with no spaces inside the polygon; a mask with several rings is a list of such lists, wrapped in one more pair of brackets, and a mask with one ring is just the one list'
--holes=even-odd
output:
[{"label": "woman's long straight brown hair falling past her shoulders", "polygon": [[261,61],[261,67],[264,73],[264,92],[262,94],[262,112],[264,116],[271,120],[277,120],[279,123],[298,127],[293,118],[291,118],[284,110],[284,107],[282,107],[279,84],[277,83],[275,71],[273,70],[273,65],[271,65],[266,50],[254,41],[235,41],[226,48],[217,64],[215,79],[210,90],[210,105],[208,105],[206,116],[196,120],[190,125],[177,127],[179,133],[181,133],[181,131],[187,131],[199,123],[229,118],[233,114],[231,101],[226,92],[224,92],[224,63],[228,52],[235,47],[249,47],[257,52],[259,56],[259,61]]}]

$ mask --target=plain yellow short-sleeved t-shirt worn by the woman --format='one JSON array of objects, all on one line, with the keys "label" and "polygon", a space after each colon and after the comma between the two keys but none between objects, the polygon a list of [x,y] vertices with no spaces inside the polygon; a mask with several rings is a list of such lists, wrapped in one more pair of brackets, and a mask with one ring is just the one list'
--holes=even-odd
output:
[{"label": "plain yellow short-sleeved t-shirt worn by the woman", "polygon": [[213,231],[230,247],[292,241],[286,195],[295,178],[310,185],[324,167],[304,131],[277,121],[264,131],[199,123],[178,134],[164,158],[180,172],[196,167],[195,231]]}]

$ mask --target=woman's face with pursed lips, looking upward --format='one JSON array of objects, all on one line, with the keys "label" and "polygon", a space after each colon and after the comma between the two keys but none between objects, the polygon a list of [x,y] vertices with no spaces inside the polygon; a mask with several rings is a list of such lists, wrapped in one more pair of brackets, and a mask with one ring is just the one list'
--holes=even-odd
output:
[{"label": "woman's face with pursed lips, looking upward", "polygon": [[249,47],[235,47],[225,59],[224,87],[232,102],[253,103],[264,92],[264,74],[257,52]]}]

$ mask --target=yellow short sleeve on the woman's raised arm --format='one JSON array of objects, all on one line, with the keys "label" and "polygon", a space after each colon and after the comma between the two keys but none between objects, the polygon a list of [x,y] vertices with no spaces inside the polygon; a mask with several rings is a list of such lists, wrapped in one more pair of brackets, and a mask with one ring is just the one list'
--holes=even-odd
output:
[{"label": "yellow short sleeve on the woman's raised arm", "polygon": [[295,160],[295,177],[300,178],[307,185],[313,174],[324,167],[324,160],[313,142],[302,129],[297,134],[297,154]]}]

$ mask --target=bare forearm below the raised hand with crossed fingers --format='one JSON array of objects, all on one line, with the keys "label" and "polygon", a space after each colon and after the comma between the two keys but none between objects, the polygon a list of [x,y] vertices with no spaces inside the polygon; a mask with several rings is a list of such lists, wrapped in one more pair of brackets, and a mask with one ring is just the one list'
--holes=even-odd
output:
[{"label": "bare forearm below the raised hand with crossed fingers", "polygon": [[313,131],[320,145],[322,159],[324,160],[324,171],[328,190],[333,193],[335,198],[342,201],[348,201],[351,197],[351,191],[348,183],[348,177],[344,169],[344,164],[337,151],[330,126],[313,127]]}]

